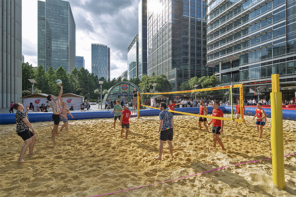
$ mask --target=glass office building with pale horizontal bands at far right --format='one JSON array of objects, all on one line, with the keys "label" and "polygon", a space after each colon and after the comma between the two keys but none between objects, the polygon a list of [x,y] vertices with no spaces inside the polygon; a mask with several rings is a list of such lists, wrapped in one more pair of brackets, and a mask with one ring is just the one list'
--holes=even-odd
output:
[{"label": "glass office building with pale horizontal bands at far right", "polygon": [[245,99],[255,91],[269,99],[272,74],[280,75],[283,99],[295,97],[295,13],[296,0],[208,1],[207,65],[222,85],[231,84],[232,62],[233,83],[244,83]]}]

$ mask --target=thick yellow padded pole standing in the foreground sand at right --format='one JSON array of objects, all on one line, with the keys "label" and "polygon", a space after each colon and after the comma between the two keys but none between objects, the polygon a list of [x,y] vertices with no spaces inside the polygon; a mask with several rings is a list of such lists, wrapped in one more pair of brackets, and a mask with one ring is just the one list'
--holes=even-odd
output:
[{"label": "thick yellow padded pole standing in the foreground sand at right", "polygon": [[272,150],[272,181],[280,189],[285,189],[285,163],[283,138],[283,108],[280,92],[279,74],[271,75],[271,150]]}]

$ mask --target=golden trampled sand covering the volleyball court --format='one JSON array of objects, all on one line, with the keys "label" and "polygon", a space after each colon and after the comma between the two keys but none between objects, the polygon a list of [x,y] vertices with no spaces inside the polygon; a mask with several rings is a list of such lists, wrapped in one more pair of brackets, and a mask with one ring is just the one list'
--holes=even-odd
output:
[{"label": "golden trampled sand covering the volleyball court", "polygon": [[[161,161],[154,159],[158,116],[131,118],[128,140],[120,139],[119,124],[112,130],[112,118],[69,120],[72,134],[60,132],[58,144],[51,141],[53,122],[32,123],[36,155],[27,150],[27,163],[16,162],[24,143],[15,125],[0,125],[0,197],[90,197],[272,157],[268,127],[258,139],[254,125],[226,122],[222,151],[218,144],[211,148],[212,134],[204,127],[199,131],[198,117],[174,117],[175,158],[165,143]],[[254,123],[250,116],[246,120]],[[284,120],[285,154],[296,152],[295,139],[295,121]],[[285,184],[285,190],[273,184],[272,161],[266,160],[108,196],[296,196],[296,155],[285,157]]]}]

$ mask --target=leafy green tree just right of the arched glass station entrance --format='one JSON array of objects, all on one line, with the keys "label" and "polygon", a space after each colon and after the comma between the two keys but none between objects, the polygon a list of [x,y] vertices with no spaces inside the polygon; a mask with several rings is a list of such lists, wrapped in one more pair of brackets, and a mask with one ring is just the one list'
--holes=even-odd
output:
[{"label": "leafy green tree just right of the arched glass station entrance", "polygon": [[153,83],[157,83],[157,85],[155,86],[155,92],[171,92],[173,89],[166,75],[152,74],[151,77],[144,75],[141,78],[141,82],[139,83],[140,90],[143,93],[153,92]]}]

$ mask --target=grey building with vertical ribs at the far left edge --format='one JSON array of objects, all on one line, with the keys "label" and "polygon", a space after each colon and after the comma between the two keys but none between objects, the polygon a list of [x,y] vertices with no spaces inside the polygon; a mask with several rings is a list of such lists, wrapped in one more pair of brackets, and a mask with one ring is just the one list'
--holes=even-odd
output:
[{"label": "grey building with vertical ribs at the far left edge", "polygon": [[[0,22],[0,108],[22,97],[22,1],[3,0]],[[7,111],[8,113],[8,111]]]}]

